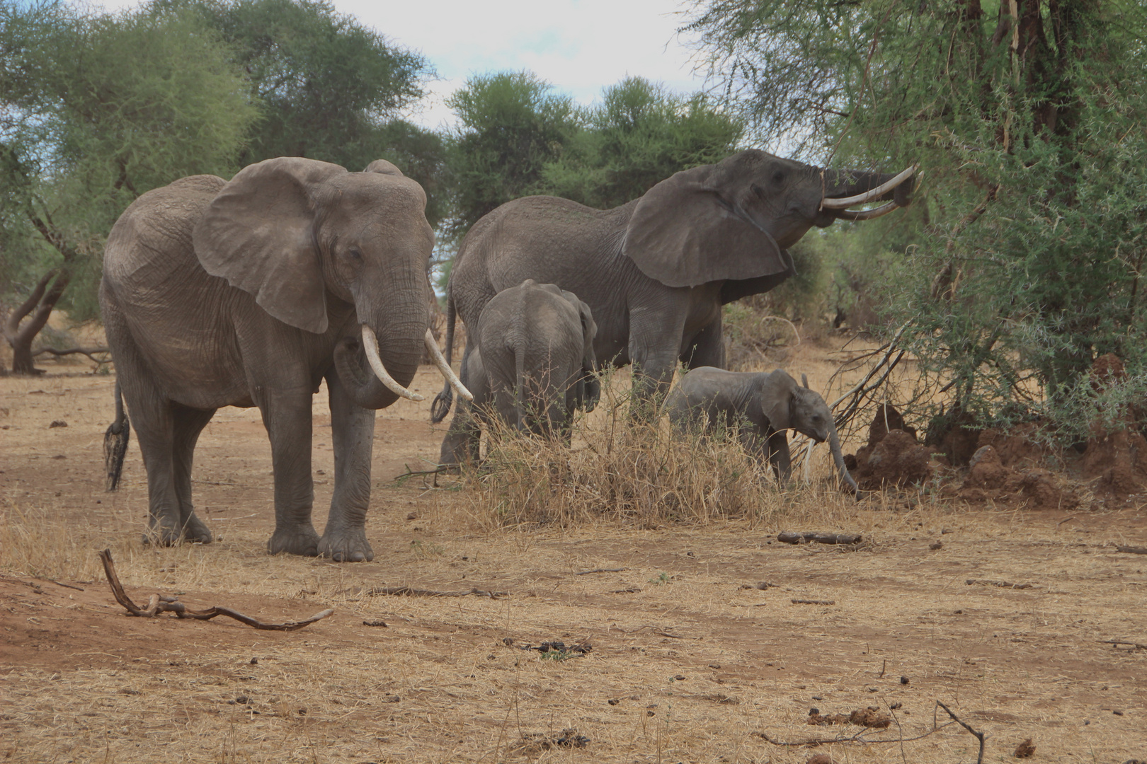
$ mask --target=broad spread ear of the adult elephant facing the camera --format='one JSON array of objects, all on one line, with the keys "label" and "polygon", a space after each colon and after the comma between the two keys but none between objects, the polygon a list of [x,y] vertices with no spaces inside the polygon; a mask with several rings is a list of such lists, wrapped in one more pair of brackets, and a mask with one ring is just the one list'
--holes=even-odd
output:
[{"label": "broad spread ear of the adult elephant facing the camera", "polygon": [[327,184],[346,170],[302,157],[249,165],[223,187],[192,231],[200,265],[283,323],[327,331],[315,244]]}]

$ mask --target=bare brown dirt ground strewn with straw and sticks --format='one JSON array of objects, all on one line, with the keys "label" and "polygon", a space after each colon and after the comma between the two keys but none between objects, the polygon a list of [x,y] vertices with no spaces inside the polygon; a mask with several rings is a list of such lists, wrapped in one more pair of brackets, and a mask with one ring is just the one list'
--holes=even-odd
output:
[{"label": "bare brown dirt ground strewn with straw and sticks", "polygon": [[[786,365],[827,379],[824,348],[798,351]],[[805,725],[809,709],[900,704],[866,738],[914,737],[931,728],[937,700],[988,733],[988,761],[1025,738],[1040,761],[1147,759],[1147,649],[1100,641],[1147,644],[1147,557],[1114,546],[1147,545],[1138,503],[1017,512],[883,494],[858,506],[806,490],[793,494],[790,526],[486,531],[457,486],[391,480],[424,468],[443,432],[428,424],[429,402],[403,401],[376,431],[367,530],[377,557],[336,565],[265,554],[270,448],[256,410],[226,409],[200,441],[195,480],[220,541],[151,549],[139,542],[134,440],[126,486],[102,489],[114,377],[44,365],[49,376],[0,379],[0,759],[974,761],[958,726],[903,751],[786,748],[757,734],[849,737],[860,727]],[[413,387],[439,384],[424,369]],[[68,427],[49,428],[55,419]],[[323,396],[315,422],[321,507],[333,472]],[[788,546],[772,541],[782,529],[860,531],[867,543]],[[264,620],[336,613],[283,633],[131,619],[103,582],[104,546],[138,601],[162,591]],[[624,570],[576,575],[594,568]],[[752,588],[762,581],[775,586]],[[381,585],[508,594],[361,592]],[[376,620],[387,628],[362,623]],[[555,638],[592,651],[553,661],[518,648]],[[568,728],[590,741],[543,745]]]}]

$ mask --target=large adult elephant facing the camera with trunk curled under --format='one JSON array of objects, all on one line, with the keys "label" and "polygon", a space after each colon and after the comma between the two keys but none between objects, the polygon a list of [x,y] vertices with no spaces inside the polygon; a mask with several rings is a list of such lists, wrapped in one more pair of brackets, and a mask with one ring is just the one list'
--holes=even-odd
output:
[{"label": "large adult elephant facing the camera with trunk curled under", "polygon": [[[125,444],[122,391],[147,470],[153,538],[211,541],[192,504],[195,442],[216,409],[257,405],[274,468],[268,550],[373,559],[365,522],[374,409],[400,395],[421,400],[405,386],[423,349],[438,352],[428,330],[434,234],[424,208],[422,187],[390,163],[350,173],[292,157],[229,182],[184,178],[120,215],[100,285],[118,376],[109,438],[118,432]],[[311,523],[311,396],[322,379],[335,486],[320,538]],[[109,467],[116,476],[118,468]]]}]

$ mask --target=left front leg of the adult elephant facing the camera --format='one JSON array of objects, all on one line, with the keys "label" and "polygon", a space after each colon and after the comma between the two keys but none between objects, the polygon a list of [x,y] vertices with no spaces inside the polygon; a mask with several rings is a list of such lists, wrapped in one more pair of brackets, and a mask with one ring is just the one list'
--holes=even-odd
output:
[{"label": "left front leg of the adult elephant facing the camera", "polygon": [[271,439],[275,480],[275,531],[267,542],[272,554],[314,557],[319,534],[311,523],[314,481],[311,478],[311,391],[258,391],[263,424]]}]

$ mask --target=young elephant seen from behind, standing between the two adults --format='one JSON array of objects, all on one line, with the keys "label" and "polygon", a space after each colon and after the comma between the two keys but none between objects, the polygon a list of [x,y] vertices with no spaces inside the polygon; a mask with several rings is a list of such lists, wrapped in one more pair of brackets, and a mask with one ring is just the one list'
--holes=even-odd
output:
[{"label": "young elephant seen from behind, standing between the two adults", "polygon": [[479,420],[491,407],[515,430],[568,439],[574,410],[593,411],[601,393],[592,375],[596,333],[590,306],[554,284],[528,278],[494,296],[465,360],[474,401],[454,412],[439,462],[477,458]]}]

